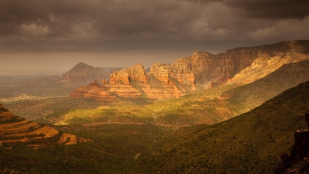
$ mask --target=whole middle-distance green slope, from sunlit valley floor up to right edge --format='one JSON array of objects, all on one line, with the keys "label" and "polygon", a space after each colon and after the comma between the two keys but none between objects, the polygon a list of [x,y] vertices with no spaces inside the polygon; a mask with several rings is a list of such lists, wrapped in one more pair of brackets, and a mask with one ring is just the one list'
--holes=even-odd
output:
[{"label": "whole middle-distance green slope, from sunlit valley floor up to right edge", "polygon": [[[249,111],[282,91],[309,80],[309,62],[284,65],[247,85],[232,83],[172,100],[137,105],[128,100],[96,109],[66,109],[47,118],[67,124],[153,123],[189,126],[215,124]],[[73,107],[73,106],[72,106]]]}]

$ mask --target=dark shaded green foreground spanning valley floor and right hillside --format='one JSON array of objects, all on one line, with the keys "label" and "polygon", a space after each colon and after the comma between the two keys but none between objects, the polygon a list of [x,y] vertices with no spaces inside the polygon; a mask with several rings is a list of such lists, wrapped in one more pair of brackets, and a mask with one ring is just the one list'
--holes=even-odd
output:
[{"label": "dark shaded green foreground spanning valley floor and right hillside", "polygon": [[302,83],[214,125],[54,126],[82,139],[74,145],[55,143],[37,150],[24,143],[12,149],[3,144],[0,166],[21,173],[273,173],[280,154],[293,146],[293,132],[306,129],[308,94],[309,82]]}]

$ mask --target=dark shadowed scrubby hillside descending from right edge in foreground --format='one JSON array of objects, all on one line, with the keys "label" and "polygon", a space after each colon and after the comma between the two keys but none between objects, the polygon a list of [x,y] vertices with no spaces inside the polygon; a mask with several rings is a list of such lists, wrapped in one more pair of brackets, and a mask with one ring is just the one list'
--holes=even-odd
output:
[{"label": "dark shadowed scrubby hillside descending from right edge in foreground", "polygon": [[146,170],[273,173],[279,155],[293,146],[294,131],[306,129],[308,94],[309,82],[302,83],[248,113],[172,139],[144,159]]}]

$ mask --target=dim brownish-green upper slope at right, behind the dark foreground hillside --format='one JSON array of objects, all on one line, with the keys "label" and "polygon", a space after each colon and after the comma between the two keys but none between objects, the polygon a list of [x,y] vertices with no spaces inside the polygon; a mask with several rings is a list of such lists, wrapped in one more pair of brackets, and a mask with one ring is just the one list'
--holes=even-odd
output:
[{"label": "dim brownish-green upper slope at right, behind the dark foreground hillside", "polygon": [[282,91],[309,80],[309,61],[283,65],[253,83],[225,92],[229,106],[240,113],[250,111]]}]

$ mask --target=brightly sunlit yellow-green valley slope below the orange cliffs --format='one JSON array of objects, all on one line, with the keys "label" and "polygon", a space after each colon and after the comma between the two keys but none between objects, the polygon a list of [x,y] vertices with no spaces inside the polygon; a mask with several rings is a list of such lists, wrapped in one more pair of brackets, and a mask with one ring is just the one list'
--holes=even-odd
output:
[{"label": "brightly sunlit yellow-green valley slope below the orange cliffs", "polygon": [[188,126],[191,124],[214,124],[236,116],[225,106],[227,98],[220,98],[222,91],[235,85],[226,85],[177,98],[155,102],[151,105],[109,105],[96,109],[65,109],[46,116],[47,119],[65,124],[85,123],[152,123]]}]

